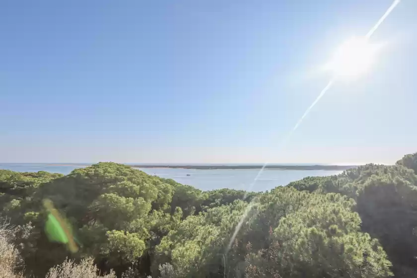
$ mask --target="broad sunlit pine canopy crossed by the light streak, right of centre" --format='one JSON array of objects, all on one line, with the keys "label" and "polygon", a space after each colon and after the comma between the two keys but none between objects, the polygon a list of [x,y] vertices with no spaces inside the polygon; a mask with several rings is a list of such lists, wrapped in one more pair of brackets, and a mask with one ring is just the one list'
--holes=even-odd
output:
[{"label": "broad sunlit pine canopy crossed by the light streak, right of centre", "polygon": [[388,277],[390,262],[360,232],[353,206],[340,195],[277,188],[250,207],[236,201],[188,217],[162,240],[155,263],[170,258],[181,277]]}]

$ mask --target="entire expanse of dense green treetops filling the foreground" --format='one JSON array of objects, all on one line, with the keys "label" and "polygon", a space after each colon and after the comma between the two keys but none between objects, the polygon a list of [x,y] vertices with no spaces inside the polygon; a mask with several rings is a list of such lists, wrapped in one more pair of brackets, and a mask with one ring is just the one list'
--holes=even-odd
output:
[{"label": "entire expanse of dense green treetops filling the foreground", "polygon": [[[14,227],[0,229],[0,277],[415,277],[415,171],[416,153],[247,193],[110,162],[66,176],[0,170],[0,217]],[[45,232],[46,199],[77,252]]]}]

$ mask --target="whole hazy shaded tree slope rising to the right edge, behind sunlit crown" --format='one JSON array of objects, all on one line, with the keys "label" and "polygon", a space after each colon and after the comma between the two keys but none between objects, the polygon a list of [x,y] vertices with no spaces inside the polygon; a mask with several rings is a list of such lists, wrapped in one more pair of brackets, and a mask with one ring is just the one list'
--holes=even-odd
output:
[{"label": "whole hazy shaded tree slope rising to the right edge, behind sunlit crown", "polygon": [[416,153],[405,155],[392,166],[349,169],[325,178],[315,190],[341,193],[357,202],[354,209],[362,219],[361,229],[381,242],[398,277],[414,277],[417,271],[416,157]]}]

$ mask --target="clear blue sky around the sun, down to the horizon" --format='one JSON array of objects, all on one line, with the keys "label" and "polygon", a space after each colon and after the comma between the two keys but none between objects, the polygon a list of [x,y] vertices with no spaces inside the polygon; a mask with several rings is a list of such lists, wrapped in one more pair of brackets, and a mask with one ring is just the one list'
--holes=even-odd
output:
[{"label": "clear blue sky around the sun, down to the horizon", "polygon": [[417,2],[336,83],[392,0],[2,1],[1,162],[393,163],[417,151]]}]

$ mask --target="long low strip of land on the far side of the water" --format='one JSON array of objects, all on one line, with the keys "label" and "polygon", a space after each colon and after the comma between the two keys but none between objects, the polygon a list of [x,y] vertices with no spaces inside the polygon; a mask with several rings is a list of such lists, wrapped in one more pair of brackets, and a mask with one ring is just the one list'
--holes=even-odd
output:
[{"label": "long low strip of land on the far side of the water", "polygon": [[[218,169],[262,169],[263,165],[128,165],[133,168],[173,168],[173,169],[198,169],[198,170],[218,170]],[[348,170],[357,167],[356,165],[267,165],[266,170]]]}]

